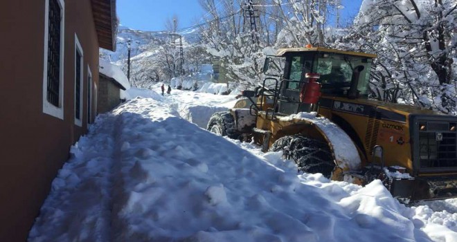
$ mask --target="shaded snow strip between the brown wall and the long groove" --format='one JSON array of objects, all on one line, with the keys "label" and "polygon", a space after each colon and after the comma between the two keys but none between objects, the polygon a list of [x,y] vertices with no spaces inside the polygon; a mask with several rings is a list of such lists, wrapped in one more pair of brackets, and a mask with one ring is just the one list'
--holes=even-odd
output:
[{"label": "shaded snow strip between the brown wall and the long groove", "polygon": [[109,241],[116,119],[99,115],[87,136],[71,147],[29,241]]}]

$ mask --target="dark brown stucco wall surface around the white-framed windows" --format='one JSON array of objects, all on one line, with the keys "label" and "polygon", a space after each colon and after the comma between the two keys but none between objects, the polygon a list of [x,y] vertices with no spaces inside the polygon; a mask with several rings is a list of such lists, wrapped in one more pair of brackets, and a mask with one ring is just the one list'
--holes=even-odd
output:
[{"label": "dark brown stucco wall surface around the white-framed windows", "polygon": [[[86,132],[87,64],[98,82],[90,0],[65,0],[64,120],[43,113],[44,0],[0,3],[0,241],[25,241],[70,146]],[[84,51],[83,127],[74,125],[74,36]]]}]

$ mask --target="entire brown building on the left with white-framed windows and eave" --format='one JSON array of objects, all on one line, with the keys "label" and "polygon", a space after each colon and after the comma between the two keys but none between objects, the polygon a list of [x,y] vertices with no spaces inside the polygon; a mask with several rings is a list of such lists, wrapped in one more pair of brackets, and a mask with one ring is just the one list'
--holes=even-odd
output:
[{"label": "entire brown building on the left with white-framed windows and eave", "polygon": [[96,115],[115,0],[0,2],[0,241],[25,241],[69,149]]}]

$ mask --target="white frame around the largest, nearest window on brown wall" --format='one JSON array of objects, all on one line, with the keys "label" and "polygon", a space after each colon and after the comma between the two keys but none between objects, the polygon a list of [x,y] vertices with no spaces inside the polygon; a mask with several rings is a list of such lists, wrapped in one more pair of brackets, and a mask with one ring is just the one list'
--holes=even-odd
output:
[{"label": "white frame around the largest, nearest window on brown wall", "polygon": [[[65,48],[65,3],[55,0],[60,6],[60,63],[59,63],[59,106],[47,100],[48,94],[48,39],[49,39],[49,1],[44,1],[44,48],[43,48],[43,113],[64,120],[64,48]],[[53,0],[51,0],[53,1]]]}]

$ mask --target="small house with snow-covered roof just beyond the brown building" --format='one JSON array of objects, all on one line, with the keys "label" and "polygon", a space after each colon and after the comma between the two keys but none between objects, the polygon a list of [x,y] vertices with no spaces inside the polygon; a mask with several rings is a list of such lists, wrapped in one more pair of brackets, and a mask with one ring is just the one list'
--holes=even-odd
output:
[{"label": "small house with snow-covered roof just beyond the brown building", "polygon": [[129,80],[118,66],[100,59],[98,88],[98,113],[105,113],[118,106],[125,97],[120,93],[130,88]]}]

